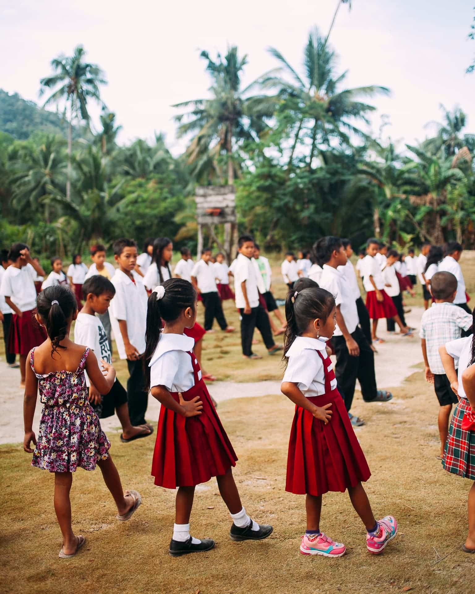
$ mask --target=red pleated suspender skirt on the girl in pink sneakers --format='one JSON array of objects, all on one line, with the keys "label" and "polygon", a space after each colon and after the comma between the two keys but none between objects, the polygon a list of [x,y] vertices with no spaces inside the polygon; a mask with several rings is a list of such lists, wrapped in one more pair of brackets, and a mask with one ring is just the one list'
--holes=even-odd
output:
[{"label": "red pleated suspender skirt on the girl in pink sneakers", "polygon": [[340,392],[338,388],[331,389],[335,373],[330,357],[319,350],[317,353],[324,365],[325,394],[309,400],[316,406],[331,402],[333,415],[325,425],[308,410],[295,407],[286,480],[286,491],[315,497],[328,491],[344,492],[349,486],[368,481],[371,476]]}]

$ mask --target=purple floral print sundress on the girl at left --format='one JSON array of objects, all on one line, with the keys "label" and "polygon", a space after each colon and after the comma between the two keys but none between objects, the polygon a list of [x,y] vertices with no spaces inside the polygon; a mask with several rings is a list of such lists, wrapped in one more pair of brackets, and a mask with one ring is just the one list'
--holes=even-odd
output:
[{"label": "purple floral print sundress on the girl at left", "polygon": [[49,472],[75,472],[77,467],[94,470],[97,460],[109,457],[110,442],[102,431],[99,417],[87,400],[84,367],[86,348],[76,371],[34,371],[43,404],[40,431],[31,466]]}]

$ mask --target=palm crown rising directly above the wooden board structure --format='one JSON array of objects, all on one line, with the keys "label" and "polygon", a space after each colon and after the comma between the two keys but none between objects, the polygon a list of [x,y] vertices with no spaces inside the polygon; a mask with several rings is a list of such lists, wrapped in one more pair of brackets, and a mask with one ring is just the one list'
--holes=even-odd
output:
[{"label": "palm crown rising directly above the wooden board structure", "polygon": [[218,178],[224,183],[220,157],[224,156],[227,183],[232,185],[235,175],[240,175],[239,147],[243,141],[258,140],[268,128],[266,119],[274,113],[274,101],[267,95],[249,96],[257,81],[240,89],[242,72],[248,63],[247,56],[239,58],[238,48],[227,50],[224,58],[218,53],[216,61],[208,52],[201,52],[207,61],[207,71],[213,84],[210,99],[195,99],[177,103],[175,108],[191,108],[188,113],[175,117],[178,137],[194,134],[186,149],[185,157],[191,165],[195,179],[207,183]]}]

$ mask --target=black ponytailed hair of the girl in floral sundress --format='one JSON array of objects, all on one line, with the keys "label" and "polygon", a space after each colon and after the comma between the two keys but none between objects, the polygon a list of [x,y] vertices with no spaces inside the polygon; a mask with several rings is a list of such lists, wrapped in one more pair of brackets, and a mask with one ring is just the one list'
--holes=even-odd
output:
[{"label": "black ponytailed hair of the girl in floral sundress", "polygon": [[[53,301],[58,303],[52,304]],[[51,341],[51,356],[58,349],[65,349],[60,345],[68,331],[68,320],[78,308],[74,293],[64,285],[46,287],[37,296],[36,309],[45,324],[46,332]]]}]

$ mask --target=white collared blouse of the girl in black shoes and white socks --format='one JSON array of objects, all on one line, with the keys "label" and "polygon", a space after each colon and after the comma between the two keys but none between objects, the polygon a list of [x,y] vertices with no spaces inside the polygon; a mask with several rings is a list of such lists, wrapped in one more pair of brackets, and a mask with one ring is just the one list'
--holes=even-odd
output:
[{"label": "white collared blouse of the girl in black shoes and white socks", "polygon": [[[195,378],[191,356],[188,353],[194,346],[194,339],[185,334],[162,332],[159,344],[148,364],[150,387],[165,386],[170,392],[186,392],[192,388]],[[201,380],[201,371],[198,372],[198,378]]]}]

